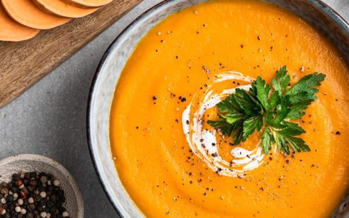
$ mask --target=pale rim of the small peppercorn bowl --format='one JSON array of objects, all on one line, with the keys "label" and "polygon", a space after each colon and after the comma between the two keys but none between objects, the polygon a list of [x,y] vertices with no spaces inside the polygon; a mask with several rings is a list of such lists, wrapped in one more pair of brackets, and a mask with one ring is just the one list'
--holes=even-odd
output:
[{"label": "pale rim of the small peppercorn bowl", "polygon": [[65,169],[65,167],[63,167],[62,164],[60,164],[57,161],[55,161],[49,157],[46,157],[46,156],[34,155],[34,154],[21,154],[21,155],[8,156],[8,157],[1,159],[0,165],[5,165],[5,164],[11,163],[11,162],[18,161],[18,160],[31,160],[31,161],[43,162],[43,163],[51,165],[52,167],[61,171],[74,190],[74,194],[75,194],[77,204],[78,204],[78,218],[84,217],[83,198],[82,198],[82,194],[81,194],[80,188],[78,186],[78,183],[75,181],[72,174],[70,174],[70,172],[67,169]]}]

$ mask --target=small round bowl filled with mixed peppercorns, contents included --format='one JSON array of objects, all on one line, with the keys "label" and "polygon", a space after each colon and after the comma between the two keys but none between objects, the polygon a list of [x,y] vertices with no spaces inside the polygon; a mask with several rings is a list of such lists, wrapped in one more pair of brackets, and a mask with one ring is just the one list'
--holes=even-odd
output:
[{"label": "small round bowl filled with mixed peppercorns, contents included", "polygon": [[83,218],[83,200],[72,175],[39,155],[0,160],[0,218]]}]

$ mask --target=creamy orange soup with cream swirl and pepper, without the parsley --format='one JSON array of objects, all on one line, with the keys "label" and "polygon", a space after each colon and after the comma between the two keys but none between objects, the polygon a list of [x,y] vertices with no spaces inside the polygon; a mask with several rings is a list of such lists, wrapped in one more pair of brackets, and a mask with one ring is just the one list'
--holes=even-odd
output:
[{"label": "creamy orange soup with cream swirl and pepper, without the parsley", "polygon": [[[264,127],[234,145],[207,124],[224,118],[216,106],[224,96],[258,76],[271,86],[284,65],[286,90],[326,75],[305,115],[288,120],[305,130],[296,137],[310,151],[290,146],[287,155],[273,143],[265,154]],[[208,1],[168,16],[116,86],[110,137],[123,186],[146,217],[331,216],[349,185],[348,73],[322,33],[270,3]]]}]

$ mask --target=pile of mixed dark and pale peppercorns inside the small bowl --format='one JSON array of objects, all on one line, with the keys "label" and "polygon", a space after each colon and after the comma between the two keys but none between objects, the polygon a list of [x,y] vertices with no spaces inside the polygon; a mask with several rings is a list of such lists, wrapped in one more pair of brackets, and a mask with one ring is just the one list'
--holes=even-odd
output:
[{"label": "pile of mixed dark and pale peppercorns inside the small bowl", "polygon": [[45,172],[20,172],[0,184],[0,218],[69,218],[60,181]]}]

